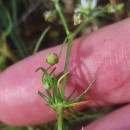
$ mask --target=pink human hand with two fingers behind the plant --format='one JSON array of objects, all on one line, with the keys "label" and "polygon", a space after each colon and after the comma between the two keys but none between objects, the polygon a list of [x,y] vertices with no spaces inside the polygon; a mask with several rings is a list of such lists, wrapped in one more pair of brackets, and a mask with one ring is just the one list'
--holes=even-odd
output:
[{"label": "pink human hand with two fingers behind the plant", "polygon": [[[87,37],[74,41],[66,93],[78,86],[79,95],[95,77],[95,85],[86,97],[89,106],[105,106],[130,102],[130,19],[110,25]],[[0,74],[0,120],[15,126],[35,125],[56,118],[37,91],[43,91],[39,66],[47,68],[44,59],[59,46],[39,52]],[[57,73],[63,70],[64,48]],[[86,105],[87,106],[87,105]],[[130,105],[112,112],[84,130],[129,130]]]}]

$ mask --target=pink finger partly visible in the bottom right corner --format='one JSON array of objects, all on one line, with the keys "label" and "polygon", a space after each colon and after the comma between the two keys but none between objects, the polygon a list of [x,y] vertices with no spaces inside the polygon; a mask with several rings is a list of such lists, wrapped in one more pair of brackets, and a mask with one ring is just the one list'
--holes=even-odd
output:
[{"label": "pink finger partly visible in the bottom right corner", "polygon": [[130,130],[130,105],[98,119],[84,130]]}]

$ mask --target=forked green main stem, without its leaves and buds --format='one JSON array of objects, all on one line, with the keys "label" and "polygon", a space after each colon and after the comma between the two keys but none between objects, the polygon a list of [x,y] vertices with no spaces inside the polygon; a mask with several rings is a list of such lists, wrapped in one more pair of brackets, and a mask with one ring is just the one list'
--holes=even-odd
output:
[{"label": "forked green main stem, without its leaves and buds", "polygon": [[[79,33],[79,31],[81,31],[81,29],[83,29],[83,27],[88,24],[89,22],[91,22],[95,16],[93,17],[89,17],[89,18],[86,18],[84,23],[81,24],[76,30],[74,33],[70,33],[69,31],[69,28],[68,28],[68,25],[66,23],[66,20],[64,18],[64,15],[62,13],[62,10],[61,10],[61,7],[58,3],[58,1],[54,1],[55,2],[55,8],[59,14],[59,17],[61,19],[61,22],[63,24],[63,27],[66,31],[66,34],[67,34],[67,37],[65,39],[65,41],[68,42],[67,44],[67,52],[66,52],[66,59],[65,59],[65,65],[64,65],[64,74],[67,73],[68,71],[68,66],[69,66],[69,59],[70,59],[70,53],[71,53],[71,46],[72,46],[72,41],[74,39],[74,37]],[[97,16],[97,15],[96,15]],[[64,43],[64,42],[63,42]],[[62,48],[61,48],[61,51],[62,51]],[[60,54],[59,54],[59,57],[61,55],[61,51],[60,51]],[[64,76],[63,80],[62,80],[62,87],[61,87],[61,96],[62,96],[62,99],[64,100],[64,95],[65,95],[65,85],[66,85],[66,79],[67,79],[67,76]],[[82,96],[82,95],[81,95]],[[78,97],[80,98],[80,97]],[[76,98],[77,99],[77,98]],[[59,105],[57,107],[57,129],[58,130],[62,130],[62,115],[63,115],[63,106],[62,105]]]}]

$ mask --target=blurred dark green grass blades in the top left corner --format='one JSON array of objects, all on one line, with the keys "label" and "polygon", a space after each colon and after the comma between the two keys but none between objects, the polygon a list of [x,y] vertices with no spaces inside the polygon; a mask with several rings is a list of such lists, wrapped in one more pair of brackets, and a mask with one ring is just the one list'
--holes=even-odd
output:
[{"label": "blurred dark green grass blades in the top left corner", "polygon": [[8,9],[4,5],[3,1],[0,0],[0,24],[3,26],[3,28],[6,29],[6,31],[4,31],[6,33],[3,33],[2,35],[4,35],[4,38],[6,38],[8,35],[11,38],[15,47],[18,49],[21,57],[26,57],[28,56],[29,52],[25,46],[25,43],[23,42],[15,28],[17,24],[16,0],[12,0],[11,5],[12,17]]}]

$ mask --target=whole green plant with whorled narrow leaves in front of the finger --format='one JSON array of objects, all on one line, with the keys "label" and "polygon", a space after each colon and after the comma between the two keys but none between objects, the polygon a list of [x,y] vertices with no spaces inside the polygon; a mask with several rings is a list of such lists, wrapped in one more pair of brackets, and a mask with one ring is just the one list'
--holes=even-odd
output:
[{"label": "whole green plant with whorled narrow leaves in front of the finger", "polygon": [[[74,25],[78,25],[74,32],[70,32],[69,27],[67,25],[67,22],[65,20],[65,17],[63,15],[63,11],[61,9],[61,6],[59,4],[59,0],[52,0],[55,9],[57,11],[57,14],[59,15],[59,18],[62,22],[62,25],[64,27],[64,30],[66,32],[66,38],[63,42],[63,45],[61,46],[59,56],[55,53],[48,54],[47,56],[47,63],[50,64],[50,66],[45,69],[43,67],[39,67],[36,69],[36,72],[41,70],[43,72],[42,74],[42,83],[44,85],[44,90],[46,91],[47,96],[45,96],[42,92],[38,91],[38,94],[47,102],[47,105],[52,107],[54,111],[57,113],[57,129],[62,130],[63,122],[62,118],[68,119],[68,116],[66,115],[66,111],[68,114],[70,114],[73,117],[76,117],[73,113],[72,107],[87,104],[90,102],[90,100],[87,101],[80,101],[84,95],[88,92],[88,90],[92,87],[96,79],[94,79],[89,86],[85,89],[83,93],[81,93],[78,97],[71,99],[74,92],[76,91],[76,88],[72,91],[72,93],[66,97],[65,96],[65,86],[66,86],[66,79],[68,72],[68,65],[69,65],[69,57],[70,57],[70,51],[71,51],[71,45],[72,41],[75,38],[75,36],[83,29],[84,26],[89,24],[94,18],[98,16],[102,16],[104,13],[111,11],[111,5],[107,5],[102,9],[95,8],[96,4],[94,6],[91,5],[91,1],[89,1],[86,8],[82,7],[81,5],[74,13]],[[108,11],[109,10],[109,11]],[[112,12],[112,11],[111,11]],[[47,20],[47,17],[46,17]],[[49,22],[52,22],[53,19]],[[60,55],[62,53],[63,46],[67,42],[67,52],[66,52],[66,60],[64,65],[64,70],[61,75],[54,76],[54,72],[56,68],[54,67],[55,64],[58,63]],[[51,69],[50,72],[48,72]],[[61,84],[60,84],[61,83]],[[51,92],[52,90],[52,92]]]}]

